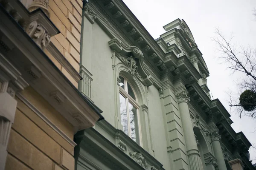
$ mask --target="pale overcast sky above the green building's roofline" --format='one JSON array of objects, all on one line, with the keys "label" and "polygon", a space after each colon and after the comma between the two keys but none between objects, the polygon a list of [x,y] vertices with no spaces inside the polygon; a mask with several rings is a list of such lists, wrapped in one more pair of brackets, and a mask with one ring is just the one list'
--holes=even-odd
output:
[{"label": "pale overcast sky above the green building's roofline", "polygon": [[[123,0],[128,8],[140,20],[148,32],[157,39],[165,31],[163,26],[177,18],[186,21],[198,48],[208,66],[210,77],[208,87],[213,98],[220,99],[228,106],[229,89],[236,92],[236,82],[241,75],[231,74],[227,65],[221,64],[217,46],[211,40],[215,37],[215,28],[229,37],[233,33],[237,45],[256,47],[256,21],[253,8],[256,0]],[[238,113],[231,111],[231,125],[236,132],[242,131],[251,144],[256,145],[256,120],[249,117],[239,118]],[[256,150],[250,149],[250,159],[256,159]],[[254,160],[253,163],[256,163]]]}]

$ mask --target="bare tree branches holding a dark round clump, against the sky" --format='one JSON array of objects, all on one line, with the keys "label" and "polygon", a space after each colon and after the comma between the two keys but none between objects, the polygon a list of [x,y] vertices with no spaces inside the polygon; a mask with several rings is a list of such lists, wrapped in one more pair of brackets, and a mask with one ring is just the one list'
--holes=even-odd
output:
[{"label": "bare tree branches holding a dark round clump, against the sky", "polygon": [[[254,9],[256,16],[256,10]],[[244,79],[239,82],[239,88],[243,91],[239,99],[234,99],[230,94],[230,107],[236,107],[240,113],[256,118],[256,49],[250,46],[233,45],[234,36],[227,39],[216,28],[217,36],[212,38],[219,47],[221,59],[228,64],[233,73],[244,74]]]}]

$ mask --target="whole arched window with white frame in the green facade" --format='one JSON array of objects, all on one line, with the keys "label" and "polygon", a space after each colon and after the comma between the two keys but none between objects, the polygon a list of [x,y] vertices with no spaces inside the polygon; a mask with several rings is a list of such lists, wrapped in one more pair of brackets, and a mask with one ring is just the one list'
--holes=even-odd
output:
[{"label": "whole arched window with white frame in the green facade", "polygon": [[120,113],[121,113],[121,124],[123,131],[131,137],[138,144],[139,140],[139,126],[138,126],[138,111],[139,104],[136,99],[130,83],[124,77],[119,76],[121,79],[119,88],[119,99],[120,99]]}]

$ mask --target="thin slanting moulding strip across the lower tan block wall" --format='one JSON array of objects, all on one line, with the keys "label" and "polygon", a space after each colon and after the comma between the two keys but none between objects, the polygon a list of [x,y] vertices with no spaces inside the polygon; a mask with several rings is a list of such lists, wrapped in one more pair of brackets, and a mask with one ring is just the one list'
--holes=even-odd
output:
[{"label": "thin slanting moulding strip across the lower tan block wall", "polygon": [[54,123],[52,123],[43,113],[41,113],[37,108],[35,108],[32,103],[30,103],[22,94],[16,94],[16,96],[25,104],[27,105],[33,112],[35,112],[47,125],[52,127],[55,132],[57,132],[63,139],[65,139],[72,147],[76,146],[76,143],[73,139],[70,139],[62,130],[60,130]]}]

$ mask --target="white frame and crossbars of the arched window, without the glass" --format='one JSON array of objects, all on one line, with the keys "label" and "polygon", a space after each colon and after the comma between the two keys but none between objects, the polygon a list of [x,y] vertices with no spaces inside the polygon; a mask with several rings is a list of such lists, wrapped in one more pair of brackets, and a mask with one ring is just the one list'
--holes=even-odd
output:
[{"label": "white frame and crossbars of the arched window, without the glass", "polygon": [[[122,75],[119,75],[119,77],[122,77],[124,79],[124,88],[119,86],[119,94],[121,94],[125,98],[125,103],[126,103],[126,113],[127,113],[127,125],[128,125],[128,136],[131,138],[131,122],[130,122],[130,112],[129,112],[129,103],[133,105],[137,109],[136,113],[136,118],[137,118],[137,125],[135,125],[136,130],[136,143],[140,144],[142,146],[142,137],[141,137],[141,127],[140,127],[140,105],[137,102],[137,95],[134,91],[134,88],[132,87],[131,83],[128,81],[127,78],[125,78]],[[129,94],[128,94],[128,84],[131,86],[132,91],[134,92],[135,99],[133,99]],[[120,102],[120,100],[119,100]],[[119,115],[121,116],[121,115]],[[122,125],[122,122],[121,122]],[[122,129],[123,130],[123,129]],[[138,138],[138,139],[137,139]],[[132,139],[132,138],[131,138]],[[135,141],[134,141],[135,142]]]}]

